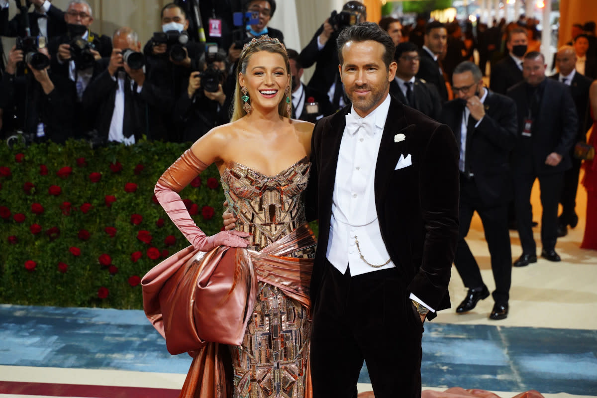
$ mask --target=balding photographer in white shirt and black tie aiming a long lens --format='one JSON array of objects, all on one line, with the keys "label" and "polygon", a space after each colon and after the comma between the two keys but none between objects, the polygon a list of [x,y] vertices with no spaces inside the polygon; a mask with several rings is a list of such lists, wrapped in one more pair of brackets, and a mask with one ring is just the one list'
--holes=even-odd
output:
[{"label": "balding photographer in white shirt and black tie aiming a long lens", "polygon": [[94,143],[134,144],[143,135],[162,134],[155,129],[150,132],[148,118],[170,109],[170,92],[146,78],[149,65],[140,53],[141,43],[134,30],[116,30],[113,43],[110,58],[99,62],[102,72],[92,79],[83,95],[85,115],[95,115]]}]

